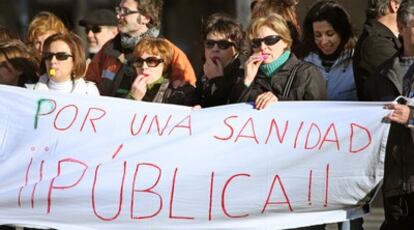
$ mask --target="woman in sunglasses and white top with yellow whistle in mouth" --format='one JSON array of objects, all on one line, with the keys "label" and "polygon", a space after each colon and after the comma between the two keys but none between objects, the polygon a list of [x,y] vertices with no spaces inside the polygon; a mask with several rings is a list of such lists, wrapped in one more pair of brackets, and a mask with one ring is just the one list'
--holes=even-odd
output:
[{"label": "woman in sunglasses and white top with yellow whistle in mouth", "polygon": [[85,51],[81,39],[73,33],[54,34],[44,44],[39,82],[28,88],[99,95],[95,83],[83,79],[85,70]]}]

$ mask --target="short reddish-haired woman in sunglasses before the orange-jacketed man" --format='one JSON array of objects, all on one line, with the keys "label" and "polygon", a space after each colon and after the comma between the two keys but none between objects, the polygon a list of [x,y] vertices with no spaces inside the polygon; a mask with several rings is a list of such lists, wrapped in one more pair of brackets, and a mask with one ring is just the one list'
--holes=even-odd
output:
[{"label": "short reddish-haired woman in sunglasses before the orange-jacketed man", "polygon": [[169,79],[172,51],[169,43],[162,38],[145,37],[133,52],[132,65],[136,78],[128,98],[137,101],[194,105],[194,87],[190,84],[173,87]]}]

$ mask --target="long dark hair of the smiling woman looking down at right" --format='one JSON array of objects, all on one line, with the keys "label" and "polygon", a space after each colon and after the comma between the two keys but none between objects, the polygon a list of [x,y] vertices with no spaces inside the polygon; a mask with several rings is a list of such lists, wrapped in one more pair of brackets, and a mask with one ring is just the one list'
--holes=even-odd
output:
[{"label": "long dark hair of the smiling woman looking down at right", "polygon": [[338,49],[351,52],[356,44],[356,36],[351,24],[351,17],[345,8],[335,0],[321,0],[316,2],[308,11],[303,24],[303,43],[306,55],[318,51],[315,44],[313,23],[327,21],[341,37]]}]

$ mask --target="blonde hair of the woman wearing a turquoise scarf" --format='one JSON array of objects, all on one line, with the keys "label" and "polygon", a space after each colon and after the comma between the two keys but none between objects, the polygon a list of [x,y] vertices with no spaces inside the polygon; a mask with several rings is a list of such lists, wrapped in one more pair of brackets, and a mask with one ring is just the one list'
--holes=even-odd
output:
[{"label": "blonde hair of the woman wearing a turquoise scarf", "polygon": [[269,14],[267,16],[261,16],[253,18],[248,32],[250,40],[258,36],[260,28],[267,26],[275,31],[282,40],[287,44],[288,49],[292,47],[292,36],[290,35],[289,27],[285,19],[278,14]]}]

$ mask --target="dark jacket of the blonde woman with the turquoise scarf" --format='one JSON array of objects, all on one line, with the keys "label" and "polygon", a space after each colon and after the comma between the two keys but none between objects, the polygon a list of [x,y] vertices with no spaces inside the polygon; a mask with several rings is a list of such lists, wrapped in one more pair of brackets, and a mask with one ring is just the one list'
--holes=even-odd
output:
[{"label": "dark jacket of the blonde woman with the turquoise scarf", "polygon": [[[298,64],[300,66],[290,92],[287,97],[282,97],[289,75]],[[293,54],[271,78],[266,77],[259,70],[252,84],[247,87],[244,85],[244,76],[239,77],[233,87],[230,102],[255,101],[257,96],[268,91],[273,92],[281,101],[326,100],[326,82],[319,70],[309,63],[298,60]]]}]

